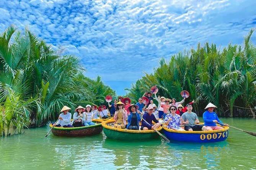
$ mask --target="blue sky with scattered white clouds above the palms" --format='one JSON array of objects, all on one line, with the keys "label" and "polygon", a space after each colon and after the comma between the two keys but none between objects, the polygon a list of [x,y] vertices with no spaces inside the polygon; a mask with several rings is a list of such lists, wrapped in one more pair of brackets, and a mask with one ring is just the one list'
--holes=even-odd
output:
[{"label": "blue sky with scattered white clouds above the palms", "polygon": [[[198,42],[241,44],[256,27],[254,0],[0,0],[0,31],[27,25],[82,59],[86,76],[124,95],[160,57]],[[255,35],[253,37],[255,42]]]}]

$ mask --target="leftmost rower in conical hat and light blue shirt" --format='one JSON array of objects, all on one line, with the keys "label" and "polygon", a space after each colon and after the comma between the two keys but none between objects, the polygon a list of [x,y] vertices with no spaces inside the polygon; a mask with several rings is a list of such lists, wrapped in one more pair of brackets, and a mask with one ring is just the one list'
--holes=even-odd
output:
[{"label": "leftmost rower in conical hat and light blue shirt", "polygon": [[61,109],[61,114],[59,115],[59,120],[57,122],[52,123],[52,126],[56,126],[56,127],[73,127],[71,125],[71,113],[68,112],[68,110],[70,110],[69,107],[64,106]]}]

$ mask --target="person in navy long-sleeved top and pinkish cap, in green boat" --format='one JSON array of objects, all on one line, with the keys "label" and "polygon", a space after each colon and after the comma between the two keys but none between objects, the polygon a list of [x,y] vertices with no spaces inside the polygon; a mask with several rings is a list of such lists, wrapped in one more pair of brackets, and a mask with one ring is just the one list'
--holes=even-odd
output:
[{"label": "person in navy long-sleeved top and pinkish cap, in green boat", "polygon": [[[140,130],[152,130],[154,128],[158,128],[161,126],[161,123],[158,122],[158,120],[155,118],[155,116],[153,115],[153,110],[154,108],[153,107],[148,107],[146,109],[146,112],[144,112],[143,114],[143,119],[146,120],[148,123],[146,123],[143,119],[142,119],[142,122],[141,122],[141,128]],[[155,122],[155,124],[153,125],[152,124],[152,121]]]}]

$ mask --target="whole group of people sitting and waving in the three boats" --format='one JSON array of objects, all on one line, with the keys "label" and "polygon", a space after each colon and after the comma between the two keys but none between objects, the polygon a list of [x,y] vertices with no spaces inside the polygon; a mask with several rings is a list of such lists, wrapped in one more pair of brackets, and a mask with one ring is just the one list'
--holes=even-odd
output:
[{"label": "whole group of people sitting and waving in the three boats", "polygon": [[[148,104],[143,104],[143,97],[147,97]],[[158,119],[163,119],[167,128],[180,131],[201,131],[201,130],[218,130],[222,127],[217,126],[216,123],[222,123],[215,112],[214,108],[217,108],[214,104],[209,103],[205,109],[207,111],[203,114],[204,125],[199,125],[197,114],[192,112],[192,104],[194,100],[182,106],[186,98],[177,102],[175,98],[168,99],[160,97],[155,94],[155,98],[152,97],[152,92],[146,92],[139,98],[136,104],[131,104],[129,98],[122,98],[114,100],[114,103],[108,106],[110,108],[110,116],[115,120],[114,127],[129,130],[152,130],[160,127],[162,124],[158,122]],[[153,99],[158,101],[158,106],[153,103]],[[86,107],[78,106],[73,114],[73,120],[71,122],[71,113],[68,112],[69,107],[64,106],[60,112],[59,119],[53,123],[53,126],[57,127],[82,127],[95,125],[92,119],[97,119],[98,116],[102,119],[108,118],[108,110],[105,105],[98,107],[96,105],[86,105]],[[142,121],[141,127],[139,122]],[[152,121],[155,124],[152,124]],[[223,124],[223,123],[222,123]],[[228,126],[227,124],[224,124]],[[139,128],[140,127],[140,128]]]}]

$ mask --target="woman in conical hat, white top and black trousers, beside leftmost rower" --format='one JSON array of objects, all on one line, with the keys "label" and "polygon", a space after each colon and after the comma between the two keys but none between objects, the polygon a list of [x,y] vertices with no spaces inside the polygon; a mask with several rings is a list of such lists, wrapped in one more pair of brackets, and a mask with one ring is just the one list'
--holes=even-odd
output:
[{"label": "woman in conical hat, white top and black trousers, beside leftmost rower", "polygon": [[71,125],[74,127],[82,127],[84,126],[85,122],[85,108],[82,106],[78,106],[75,109],[75,113],[73,114],[73,120],[71,122]]}]

